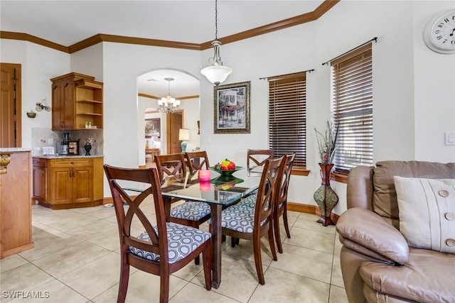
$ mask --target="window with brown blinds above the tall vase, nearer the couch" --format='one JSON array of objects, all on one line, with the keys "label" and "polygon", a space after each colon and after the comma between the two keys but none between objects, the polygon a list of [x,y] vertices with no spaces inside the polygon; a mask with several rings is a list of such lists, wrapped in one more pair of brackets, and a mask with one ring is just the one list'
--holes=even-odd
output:
[{"label": "window with brown blinds above the tall vase, nearer the couch", "polygon": [[338,127],[335,171],[373,165],[373,63],[371,43],[331,62],[331,119]]}]

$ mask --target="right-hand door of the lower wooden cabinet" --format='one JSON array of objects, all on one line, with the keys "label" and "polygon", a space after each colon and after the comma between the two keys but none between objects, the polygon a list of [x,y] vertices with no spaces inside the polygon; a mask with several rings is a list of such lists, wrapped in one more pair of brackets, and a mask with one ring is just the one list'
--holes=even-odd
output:
[{"label": "right-hand door of the lower wooden cabinet", "polygon": [[93,167],[73,167],[73,203],[93,201]]}]

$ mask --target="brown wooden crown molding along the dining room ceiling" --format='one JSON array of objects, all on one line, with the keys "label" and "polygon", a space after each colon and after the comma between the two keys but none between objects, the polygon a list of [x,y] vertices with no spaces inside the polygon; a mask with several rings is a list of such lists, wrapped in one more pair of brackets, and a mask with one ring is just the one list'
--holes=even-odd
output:
[{"label": "brown wooden crown molding along the dining room ceiling", "polygon": [[[292,26],[297,26],[303,23],[311,22],[317,20],[319,17],[323,16],[329,9],[335,6],[341,0],[325,0],[321,5],[319,5],[314,11],[309,13],[304,13],[299,16],[292,18],[287,18],[282,21],[277,21],[274,23],[267,24],[265,26],[259,26],[257,28],[252,28],[248,31],[243,31],[241,33],[236,33],[234,35],[228,35],[219,40],[223,44],[233,43],[247,38],[252,38],[257,35],[264,35],[265,33],[271,33],[273,31],[279,31],[284,28],[290,28]],[[112,42],[112,43],[127,43],[127,44],[137,44],[137,45],[149,45],[149,46],[159,46],[164,48],[183,48],[187,50],[207,50],[211,48],[212,41],[205,43],[184,43],[178,41],[168,41],[168,40],[157,40],[149,38],[135,38],[127,37],[122,35],[108,35],[103,33],[98,33],[93,35],[90,38],[77,42],[70,46],[60,45],[58,43],[53,43],[52,41],[38,38],[34,35],[29,35],[28,33],[14,33],[7,31],[0,31],[0,38],[2,39],[13,39],[13,40],[24,40],[31,43],[36,43],[43,45],[48,48],[53,48],[55,50],[60,50],[65,53],[75,53],[84,48],[89,48],[92,45],[96,45],[101,42]]]}]

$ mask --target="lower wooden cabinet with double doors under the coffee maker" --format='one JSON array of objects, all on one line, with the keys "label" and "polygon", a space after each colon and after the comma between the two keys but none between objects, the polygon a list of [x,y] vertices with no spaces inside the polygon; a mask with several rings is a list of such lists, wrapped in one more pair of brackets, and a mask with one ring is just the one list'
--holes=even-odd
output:
[{"label": "lower wooden cabinet with double doors under the coffee maker", "polygon": [[[102,204],[102,158],[53,158],[46,161],[45,194],[39,194],[43,180],[38,165],[33,165],[33,199],[52,209],[95,206]],[[36,168],[35,168],[36,167]],[[36,188],[35,188],[36,187]],[[45,199],[43,199],[45,196]]]}]

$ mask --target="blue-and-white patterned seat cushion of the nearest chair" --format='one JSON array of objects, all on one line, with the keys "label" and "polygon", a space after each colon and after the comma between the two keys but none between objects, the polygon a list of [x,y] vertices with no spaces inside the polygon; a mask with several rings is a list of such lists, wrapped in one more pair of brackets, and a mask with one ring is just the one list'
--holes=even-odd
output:
[{"label": "blue-and-white patterned seat cushion of the nearest chair", "polygon": [[[154,229],[158,232],[156,226]],[[185,258],[211,236],[207,231],[171,222],[166,222],[166,229],[168,235],[169,263],[176,263],[178,260]],[[149,234],[146,232],[141,233],[137,238],[150,242]],[[150,253],[133,246],[129,246],[128,253],[133,253],[141,258],[156,262],[160,260],[159,254]]]}]

